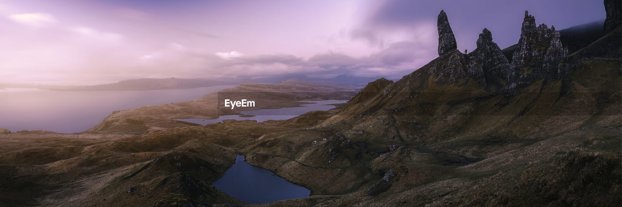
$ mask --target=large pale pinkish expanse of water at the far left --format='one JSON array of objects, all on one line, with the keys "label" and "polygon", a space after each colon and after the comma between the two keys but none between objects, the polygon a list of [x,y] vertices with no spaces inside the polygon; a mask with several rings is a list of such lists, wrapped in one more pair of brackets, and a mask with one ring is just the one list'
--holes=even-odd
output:
[{"label": "large pale pinkish expanse of water at the far left", "polygon": [[194,100],[236,86],[131,91],[0,90],[0,128],[78,133],[99,124],[114,110]]}]

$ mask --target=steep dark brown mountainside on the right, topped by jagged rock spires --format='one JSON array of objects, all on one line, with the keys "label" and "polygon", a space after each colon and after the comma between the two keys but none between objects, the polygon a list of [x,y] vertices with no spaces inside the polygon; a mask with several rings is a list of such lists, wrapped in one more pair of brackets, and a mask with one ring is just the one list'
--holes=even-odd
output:
[{"label": "steep dark brown mountainside on the right, topped by jagged rock spires", "polygon": [[262,135],[247,161],[334,197],[307,205],[621,203],[622,27],[569,54],[526,12],[508,61],[486,29],[453,50],[438,19],[439,58],[316,126]]}]

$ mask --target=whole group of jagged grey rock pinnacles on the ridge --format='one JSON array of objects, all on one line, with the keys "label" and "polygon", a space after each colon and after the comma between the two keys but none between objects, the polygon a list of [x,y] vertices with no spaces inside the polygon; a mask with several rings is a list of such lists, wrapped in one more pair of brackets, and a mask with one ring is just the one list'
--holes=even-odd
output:
[{"label": "whole group of jagged grey rock pinnacles on the ridge", "polygon": [[477,48],[468,54],[455,48],[455,38],[443,11],[439,14],[438,29],[441,57],[430,70],[435,74],[435,84],[472,79],[489,91],[513,92],[544,77],[560,79],[568,70],[568,50],[562,46],[559,31],[545,24],[536,27],[536,18],[527,11],[511,63],[493,42],[488,29],[482,30]]}]

